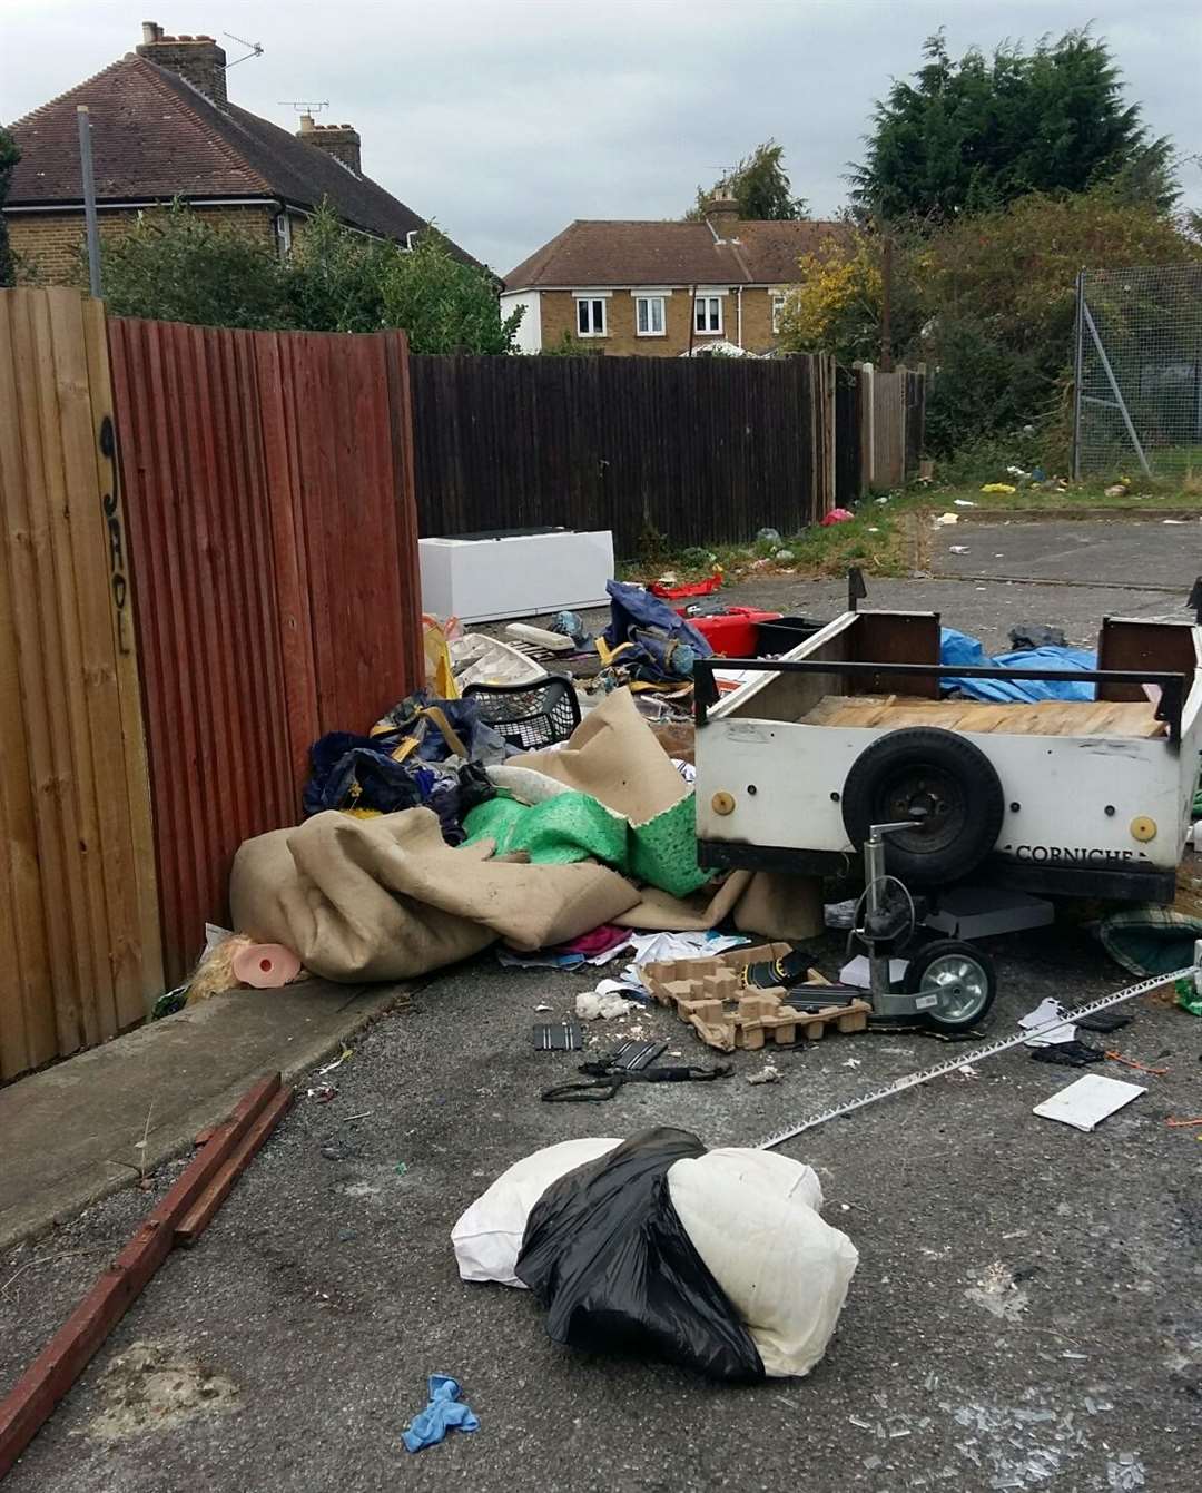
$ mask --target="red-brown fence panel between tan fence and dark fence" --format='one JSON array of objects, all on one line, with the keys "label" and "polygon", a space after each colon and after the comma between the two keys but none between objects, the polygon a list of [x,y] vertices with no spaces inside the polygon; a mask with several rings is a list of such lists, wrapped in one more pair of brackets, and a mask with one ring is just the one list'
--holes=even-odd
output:
[{"label": "red-brown fence panel between tan fence and dark fence", "polygon": [[167,978],[309,744],[421,682],[408,348],[109,321]]}]

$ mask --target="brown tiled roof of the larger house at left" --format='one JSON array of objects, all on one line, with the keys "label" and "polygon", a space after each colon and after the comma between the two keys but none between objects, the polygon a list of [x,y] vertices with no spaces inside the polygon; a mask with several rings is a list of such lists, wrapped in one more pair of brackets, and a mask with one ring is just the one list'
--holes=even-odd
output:
[{"label": "brown tiled roof of the larger house at left", "polygon": [[100,203],[279,197],[317,208],[328,199],[345,222],[382,237],[403,239],[427,227],[320,146],[237,105],[215,105],[178,73],[133,54],[9,125],[21,148],[10,208],[79,205],[81,103],[91,112]]}]

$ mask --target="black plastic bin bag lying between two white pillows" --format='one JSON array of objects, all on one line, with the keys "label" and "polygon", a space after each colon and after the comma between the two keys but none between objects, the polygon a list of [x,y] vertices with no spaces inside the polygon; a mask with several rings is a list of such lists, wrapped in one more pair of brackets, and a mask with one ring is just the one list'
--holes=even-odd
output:
[{"label": "black plastic bin bag lying between two white pillows", "polygon": [[715,1380],[765,1377],[667,1191],[672,1163],[705,1151],[688,1130],[644,1130],[539,1197],[517,1275],[546,1308],[554,1342],[666,1359]]}]

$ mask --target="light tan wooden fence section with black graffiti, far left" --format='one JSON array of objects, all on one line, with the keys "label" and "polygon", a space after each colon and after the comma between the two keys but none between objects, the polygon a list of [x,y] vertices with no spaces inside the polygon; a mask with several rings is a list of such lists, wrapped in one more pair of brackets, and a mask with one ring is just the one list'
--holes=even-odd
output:
[{"label": "light tan wooden fence section with black graffiti, far left", "polygon": [[0,291],[0,1078],[163,988],[105,317]]}]

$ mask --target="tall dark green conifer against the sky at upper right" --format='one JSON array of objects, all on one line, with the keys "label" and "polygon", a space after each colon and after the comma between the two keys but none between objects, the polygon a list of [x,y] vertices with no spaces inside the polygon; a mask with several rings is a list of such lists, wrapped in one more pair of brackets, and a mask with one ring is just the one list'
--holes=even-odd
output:
[{"label": "tall dark green conifer against the sky at upper right", "polygon": [[1032,52],[974,48],[959,61],[938,31],[923,54],[914,81],[876,103],[866,158],[850,176],[862,213],[947,222],[1027,193],[1103,184],[1162,211],[1177,200],[1172,143],[1124,103],[1109,48],[1089,30],[1045,36]]}]

